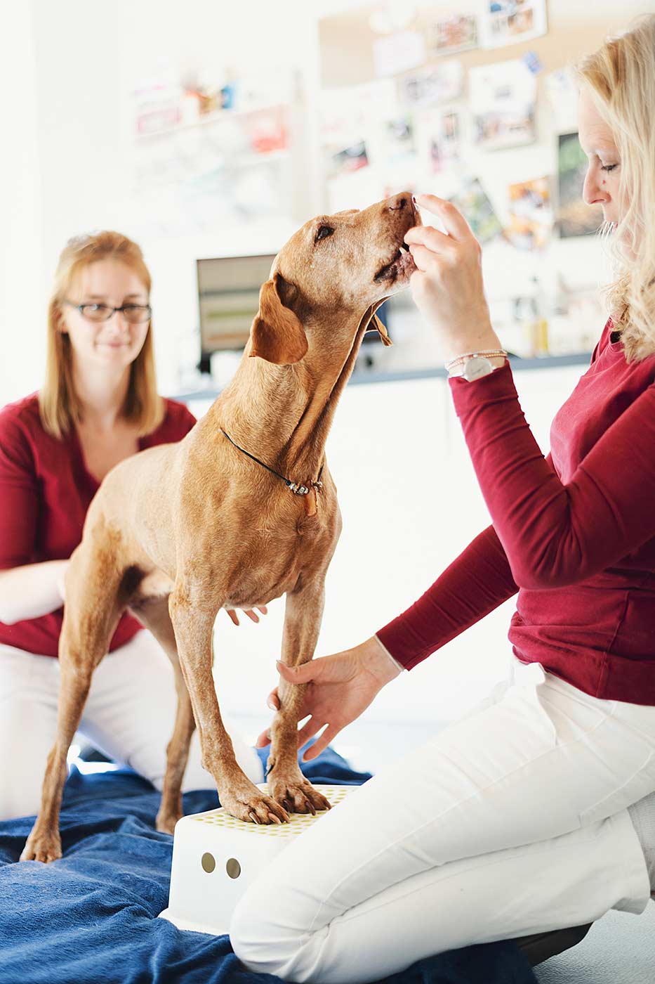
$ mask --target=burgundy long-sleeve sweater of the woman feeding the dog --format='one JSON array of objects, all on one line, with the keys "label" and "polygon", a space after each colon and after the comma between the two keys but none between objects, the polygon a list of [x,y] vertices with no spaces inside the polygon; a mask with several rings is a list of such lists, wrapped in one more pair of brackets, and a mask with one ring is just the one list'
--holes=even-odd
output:
[{"label": "burgundy long-sleeve sweater of the woman feeding the dog", "polygon": [[547,459],[508,365],[450,389],[493,524],[381,642],[411,669],[518,592],[519,659],[595,697],[655,705],[655,356],[628,364],[610,320]]}]

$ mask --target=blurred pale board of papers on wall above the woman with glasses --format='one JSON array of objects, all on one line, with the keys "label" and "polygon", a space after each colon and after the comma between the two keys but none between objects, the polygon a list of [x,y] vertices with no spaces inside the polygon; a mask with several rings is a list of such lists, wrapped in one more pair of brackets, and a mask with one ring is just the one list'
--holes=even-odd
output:
[{"label": "blurred pale board of papers on wall above the woman with glasses", "polygon": [[135,224],[148,236],[204,234],[285,209],[294,80],[162,59],[130,93]]}]

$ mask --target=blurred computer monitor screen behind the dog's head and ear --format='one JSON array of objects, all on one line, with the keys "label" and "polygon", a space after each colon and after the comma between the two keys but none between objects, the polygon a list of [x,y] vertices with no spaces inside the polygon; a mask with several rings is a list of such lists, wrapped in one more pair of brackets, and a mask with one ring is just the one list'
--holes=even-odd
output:
[{"label": "blurred computer monitor screen behind the dog's head and ear", "polygon": [[260,306],[274,255],[198,260],[202,358],[217,349],[243,348]]}]

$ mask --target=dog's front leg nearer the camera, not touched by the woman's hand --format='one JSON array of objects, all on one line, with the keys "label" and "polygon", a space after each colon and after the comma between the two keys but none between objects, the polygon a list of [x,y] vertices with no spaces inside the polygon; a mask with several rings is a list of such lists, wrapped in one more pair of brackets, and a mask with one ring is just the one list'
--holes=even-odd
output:
[{"label": "dog's front leg nearer the camera, not touched by the woman's hand", "polygon": [[168,600],[180,667],[200,732],[203,768],[213,776],[221,806],[238,820],[280,824],[288,814],[258,789],[237,765],[232,740],[220,716],[211,674],[211,634],[217,608],[195,601],[203,588],[175,585]]}]

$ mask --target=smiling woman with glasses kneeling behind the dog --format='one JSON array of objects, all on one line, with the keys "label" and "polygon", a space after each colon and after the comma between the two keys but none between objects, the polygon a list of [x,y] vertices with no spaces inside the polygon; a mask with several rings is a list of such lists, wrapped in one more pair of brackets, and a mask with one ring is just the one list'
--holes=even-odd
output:
[{"label": "smiling woman with glasses kneeling behind the dog", "polygon": [[[118,461],[179,441],[195,423],[184,405],[157,395],[149,292],[141,250],[126,236],[72,239],[49,304],[44,385],[0,411],[2,820],[38,809],[57,712],[63,576],[90,500]],[[124,615],[93,675],[82,732],[160,788],[175,705],[166,656]],[[261,782],[257,753],[233,732],[232,741]],[[213,784],[196,738],[184,788]]]}]

